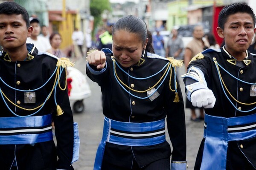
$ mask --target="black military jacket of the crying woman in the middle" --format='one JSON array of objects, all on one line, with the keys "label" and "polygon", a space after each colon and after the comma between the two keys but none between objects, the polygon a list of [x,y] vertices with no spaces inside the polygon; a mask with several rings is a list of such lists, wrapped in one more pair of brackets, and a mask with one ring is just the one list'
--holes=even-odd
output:
[{"label": "black military jacket of the crying woman in the middle", "polygon": [[[166,69],[160,74],[148,79],[129,78],[127,74],[136,78],[150,77],[160,71],[169,61],[163,57],[150,57],[153,54],[147,53],[140,59],[138,65],[129,68],[123,68],[118,62],[120,68],[116,65],[116,74],[119,79],[134,90],[145,91],[155,85]],[[107,66],[102,74],[91,74],[88,67],[87,76],[101,87],[103,96],[103,114],[113,120],[121,122],[152,122],[163,119],[167,116],[167,127],[169,137],[172,142],[172,160],[186,161],[186,129],[184,118],[184,105],[179,83],[177,82],[177,92],[180,102],[173,102],[175,92],[169,88],[170,73],[158,88],[160,94],[156,99],[138,99],[119,85],[113,69],[113,54],[107,55]],[[90,65],[95,71],[96,67]],[[125,71],[125,74],[123,71]],[[98,70],[100,71],[100,70]],[[174,89],[174,69],[172,68],[171,86]],[[156,86],[156,88],[158,85]],[[127,89],[126,89],[127,90]],[[128,91],[131,91],[128,89]],[[144,98],[146,92],[138,93],[131,91],[132,94]],[[121,146],[112,143],[106,144],[104,160],[123,167],[131,167],[133,156],[140,167],[149,164],[158,159],[168,158],[171,155],[171,149],[168,142],[152,146],[131,147]],[[103,160],[103,161],[104,161]]]}]

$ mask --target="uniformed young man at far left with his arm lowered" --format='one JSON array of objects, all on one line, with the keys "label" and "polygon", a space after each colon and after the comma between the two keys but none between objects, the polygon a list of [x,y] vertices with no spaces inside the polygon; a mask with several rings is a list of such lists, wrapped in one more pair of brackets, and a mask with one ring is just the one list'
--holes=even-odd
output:
[{"label": "uniformed young man at far left with his arm lowered", "polygon": [[32,31],[25,8],[0,4],[0,169],[73,170],[77,129],[64,68],[73,63],[26,44]]}]

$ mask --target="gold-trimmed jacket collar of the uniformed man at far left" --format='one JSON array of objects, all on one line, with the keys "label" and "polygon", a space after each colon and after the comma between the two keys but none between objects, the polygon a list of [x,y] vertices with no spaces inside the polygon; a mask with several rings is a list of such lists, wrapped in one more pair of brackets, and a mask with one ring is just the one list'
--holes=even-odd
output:
[{"label": "gold-trimmed jacket collar of the uniformed man at far left", "polygon": [[[24,61],[29,61],[29,60],[33,59],[38,54],[38,49],[35,48],[34,44],[26,44],[26,46],[27,46],[27,50],[29,51],[29,53],[27,54],[27,57]],[[3,48],[0,51],[0,58],[3,58],[4,60],[9,61],[9,62],[12,61],[9,54],[6,51],[3,51]]]}]

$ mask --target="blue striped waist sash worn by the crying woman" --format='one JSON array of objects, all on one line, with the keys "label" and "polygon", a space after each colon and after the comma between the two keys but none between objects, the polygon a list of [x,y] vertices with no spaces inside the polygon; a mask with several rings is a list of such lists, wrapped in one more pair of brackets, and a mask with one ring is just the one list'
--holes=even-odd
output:
[{"label": "blue striped waist sash worn by the crying woman", "polygon": [[100,170],[106,142],[126,146],[150,146],[166,141],[165,119],[130,123],[104,118],[102,141],[96,153],[93,170]]}]

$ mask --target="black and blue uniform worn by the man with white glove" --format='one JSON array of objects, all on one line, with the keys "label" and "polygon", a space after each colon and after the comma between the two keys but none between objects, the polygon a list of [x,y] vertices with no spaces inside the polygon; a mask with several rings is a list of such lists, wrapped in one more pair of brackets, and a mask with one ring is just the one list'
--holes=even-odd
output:
[{"label": "black and blue uniform worn by the man with white glove", "polygon": [[207,49],[191,60],[182,76],[189,100],[198,89],[210,89],[216,98],[213,108],[205,108],[196,170],[243,169],[244,160],[247,168],[256,168],[256,56],[246,53],[239,62],[225,47]]}]

